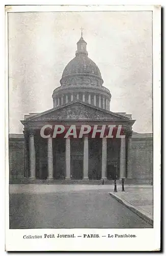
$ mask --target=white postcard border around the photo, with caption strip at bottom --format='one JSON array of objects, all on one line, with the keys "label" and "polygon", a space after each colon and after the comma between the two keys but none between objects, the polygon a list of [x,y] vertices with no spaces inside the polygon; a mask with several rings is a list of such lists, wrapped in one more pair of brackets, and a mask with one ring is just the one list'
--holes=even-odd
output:
[{"label": "white postcard border around the photo, with caption strip at bottom", "polygon": [[[8,12],[20,11],[153,11],[153,229],[9,229],[9,153],[8,153]],[[12,6],[6,7],[6,250],[8,251],[149,251],[160,248],[160,85],[161,25],[160,6]],[[98,233],[100,238],[23,239],[24,234]],[[107,238],[107,234],[135,234],[136,238]]]}]

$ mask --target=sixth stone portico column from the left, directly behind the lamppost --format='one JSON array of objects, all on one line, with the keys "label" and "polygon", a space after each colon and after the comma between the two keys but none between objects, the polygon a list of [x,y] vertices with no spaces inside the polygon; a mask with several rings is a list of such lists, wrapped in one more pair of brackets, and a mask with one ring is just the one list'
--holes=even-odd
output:
[{"label": "sixth stone portico column from the left, directly behind the lamppost", "polygon": [[121,148],[120,148],[120,178],[125,178],[126,175],[126,145],[125,138],[121,138]]}]

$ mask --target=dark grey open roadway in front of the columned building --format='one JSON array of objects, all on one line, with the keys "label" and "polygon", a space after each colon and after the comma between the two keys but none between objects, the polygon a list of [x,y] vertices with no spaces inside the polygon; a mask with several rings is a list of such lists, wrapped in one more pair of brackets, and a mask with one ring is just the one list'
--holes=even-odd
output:
[{"label": "dark grey open roadway in front of the columned building", "polygon": [[113,185],[10,185],[10,228],[152,228],[111,197],[113,190]]}]

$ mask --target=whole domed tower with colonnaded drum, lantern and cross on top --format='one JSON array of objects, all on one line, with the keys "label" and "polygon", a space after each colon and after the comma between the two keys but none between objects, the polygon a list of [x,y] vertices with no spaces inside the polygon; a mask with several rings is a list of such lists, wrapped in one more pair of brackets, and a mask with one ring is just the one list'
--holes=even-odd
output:
[{"label": "whole domed tower with colonnaded drum, lantern and cross on top", "polygon": [[111,94],[103,87],[103,79],[95,62],[88,57],[87,42],[82,37],[77,42],[75,57],[65,67],[60,87],[52,94],[53,108],[74,100],[81,100],[109,110]]}]

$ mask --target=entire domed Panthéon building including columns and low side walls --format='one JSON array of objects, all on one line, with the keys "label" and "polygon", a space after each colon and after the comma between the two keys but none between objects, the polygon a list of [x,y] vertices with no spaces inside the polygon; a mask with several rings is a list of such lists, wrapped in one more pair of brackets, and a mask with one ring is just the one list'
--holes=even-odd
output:
[{"label": "entire domed Panth\u00e9on building including columns and low side walls", "polygon": [[[130,114],[110,111],[112,95],[103,86],[97,65],[88,57],[87,43],[80,37],[75,57],[68,63],[52,94],[53,108],[31,113],[21,120],[22,135],[9,135],[10,182],[81,181],[125,178],[128,183],[151,183],[153,179],[152,134],[132,132],[135,120]],[[53,138],[41,136],[43,126],[95,125],[105,133],[100,138],[92,133],[74,138],[63,134]],[[121,135],[108,136],[108,125],[121,126]]]}]

